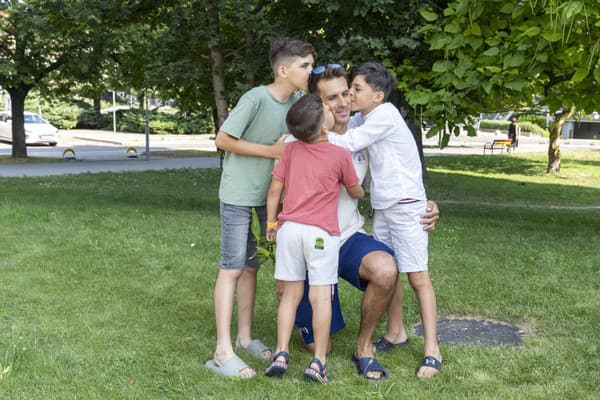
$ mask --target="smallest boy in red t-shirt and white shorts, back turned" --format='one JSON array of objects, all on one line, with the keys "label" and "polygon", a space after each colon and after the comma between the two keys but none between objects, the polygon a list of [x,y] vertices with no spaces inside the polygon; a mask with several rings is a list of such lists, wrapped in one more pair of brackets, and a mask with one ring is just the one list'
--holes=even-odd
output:
[{"label": "smallest boy in red t-shirt and white shorts, back turned", "polygon": [[[353,198],[364,196],[364,191],[350,153],[327,141],[334,118],[320,97],[303,96],[290,108],[286,123],[298,141],[286,146],[267,195],[267,239],[277,237],[275,279],[281,281],[282,296],[277,351],[265,375],[281,377],[287,371],[294,316],[308,273],[315,352],[304,375],[327,383],[331,285],[337,283],[340,238],[337,202],[341,185]],[[284,189],[283,209],[276,221]]]}]

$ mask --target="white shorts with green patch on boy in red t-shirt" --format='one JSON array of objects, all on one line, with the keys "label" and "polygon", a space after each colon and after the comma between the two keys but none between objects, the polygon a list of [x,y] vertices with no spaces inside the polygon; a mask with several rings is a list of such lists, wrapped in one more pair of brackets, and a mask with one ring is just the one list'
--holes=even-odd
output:
[{"label": "white shorts with green patch on boy in red t-shirt", "polygon": [[277,231],[275,279],[312,286],[337,283],[340,237],[312,225],[286,221]]}]

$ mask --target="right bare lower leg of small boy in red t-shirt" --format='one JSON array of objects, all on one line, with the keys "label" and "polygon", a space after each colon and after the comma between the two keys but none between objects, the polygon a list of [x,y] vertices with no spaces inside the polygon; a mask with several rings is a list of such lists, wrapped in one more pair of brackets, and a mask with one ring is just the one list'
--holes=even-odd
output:
[{"label": "right bare lower leg of small boy in red t-shirt", "polygon": [[327,344],[331,328],[331,285],[311,285],[308,298],[313,309],[314,357],[318,358],[321,364],[325,366],[327,363]]}]

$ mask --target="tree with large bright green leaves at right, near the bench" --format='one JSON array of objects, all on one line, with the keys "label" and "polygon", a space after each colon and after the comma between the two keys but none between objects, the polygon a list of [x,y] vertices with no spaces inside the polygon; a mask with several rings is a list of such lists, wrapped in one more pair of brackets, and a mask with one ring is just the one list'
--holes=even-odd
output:
[{"label": "tree with large bright green leaves at right, near the bench", "polygon": [[564,122],[575,109],[600,107],[597,1],[456,0],[421,14],[430,22],[422,29],[430,50],[438,54],[430,88],[419,98],[437,124],[433,133],[446,121],[457,132],[476,99],[490,108],[547,106],[555,115],[547,171],[558,172]]}]

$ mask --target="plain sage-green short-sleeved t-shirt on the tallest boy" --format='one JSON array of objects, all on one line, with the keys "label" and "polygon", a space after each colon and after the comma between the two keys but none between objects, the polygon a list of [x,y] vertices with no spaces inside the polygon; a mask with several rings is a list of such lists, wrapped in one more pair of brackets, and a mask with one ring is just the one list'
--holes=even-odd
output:
[{"label": "plain sage-green short-sleeved t-shirt on the tallest boy", "polygon": [[[278,101],[265,86],[246,92],[223,123],[221,131],[248,142],[271,145],[288,132],[285,116],[294,102]],[[264,206],[271,184],[273,159],[226,152],[219,199],[237,206]]]}]

